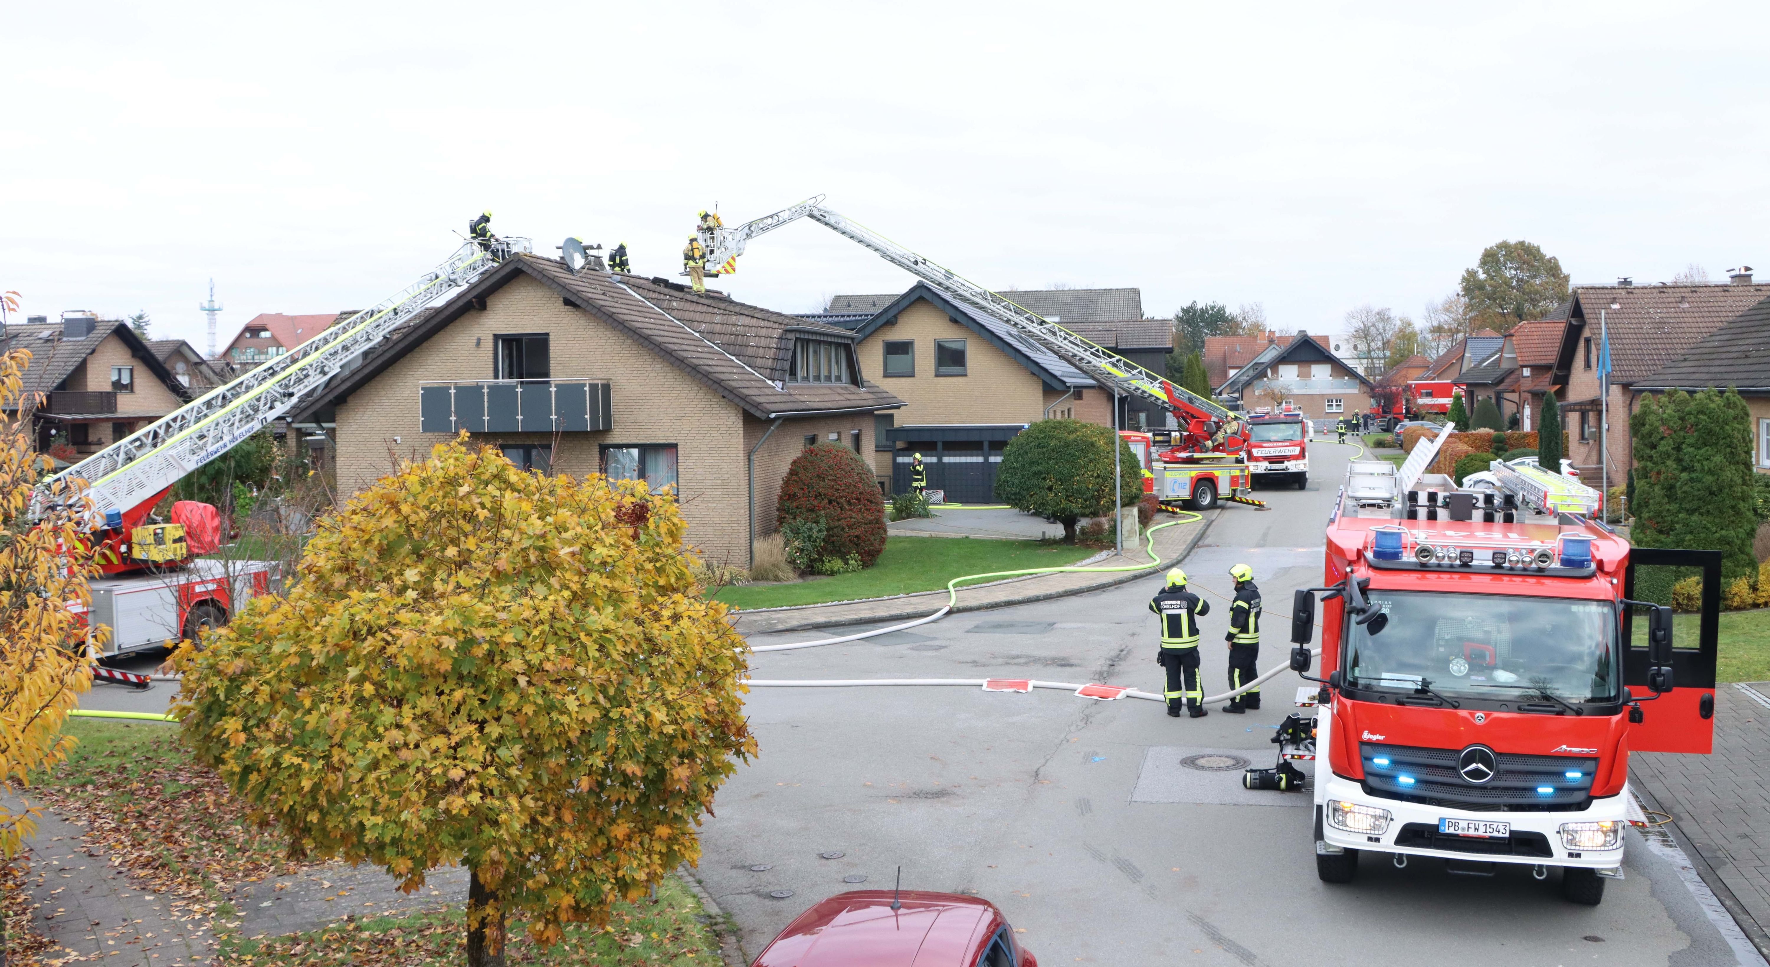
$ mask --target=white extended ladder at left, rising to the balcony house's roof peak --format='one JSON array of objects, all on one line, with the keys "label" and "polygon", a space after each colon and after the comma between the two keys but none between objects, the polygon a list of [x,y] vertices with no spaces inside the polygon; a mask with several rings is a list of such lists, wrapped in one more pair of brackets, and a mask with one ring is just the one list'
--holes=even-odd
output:
[{"label": "white extended ladder at left, rising to the balcony house's roof peak", "polygon": [[529,239],[497,239],[483,250],[467,243],[375,306],[99,450],[51,482],[87,480],[99,515],[133,510],[289,413],[379,345],[393,328],[519,251],[529,251]]}]

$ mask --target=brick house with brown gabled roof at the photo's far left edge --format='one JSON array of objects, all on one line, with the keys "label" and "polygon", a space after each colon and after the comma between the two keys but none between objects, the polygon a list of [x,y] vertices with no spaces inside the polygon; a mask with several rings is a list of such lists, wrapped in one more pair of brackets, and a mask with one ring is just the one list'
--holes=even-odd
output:
[{"label": "brick house with brown gabled roof at the photo's far left edge", "polygon": [[[127,322],[92,313],[32,315],[11,324],[0,349],[30,351],[25,393],[37,448],[78,460],[179,409],[191,398]],[[64,450],[65,446],[65,450]],[[73,462],[73,460],[71,460]]]}]

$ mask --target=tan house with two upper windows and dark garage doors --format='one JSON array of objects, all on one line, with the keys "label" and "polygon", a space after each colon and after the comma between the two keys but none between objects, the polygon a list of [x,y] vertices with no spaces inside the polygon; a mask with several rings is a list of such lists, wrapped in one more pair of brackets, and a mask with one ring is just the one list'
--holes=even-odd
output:
[{"label": "tan house with two upper windows and dark garage doors", "polygon": [[954,503],[991,503],[1002,448],[1034,420],[1112,425],[1112,395],[1092,377],[926,283],[890,299],[837,296],[830,305],[874,301],[871,315],[846,326],[867,372],[903,400],[903,409],[876,418],[873,436],[874,473],[889,492],[910,489],[910,464],[920,453],[929,489]]}]

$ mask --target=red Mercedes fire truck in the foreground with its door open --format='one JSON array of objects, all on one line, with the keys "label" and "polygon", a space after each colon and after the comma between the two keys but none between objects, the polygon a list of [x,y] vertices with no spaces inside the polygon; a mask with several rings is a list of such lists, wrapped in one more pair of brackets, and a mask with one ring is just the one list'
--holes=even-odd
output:
[{"label": "red Mercedes fire truck in the foreground with its door open", "polygon": [[[1423,466],[1354,462],[1324,586],[1296,592],[1290,668],[1320,685],[1299,696],[1319,703],[1315,756],[1319,756],[1317,871],[1349,882],[1359,854],[1538,880],[1559,868],[1563,894],[1597,905],[1644,818],[1628,753],[1710,751],[1720,553],[1630,547]],[[1669,607],[1632,600],[1643,569],[1673,567],[1705,583],[1699,630],[1680,625],[1676,643]]]}]

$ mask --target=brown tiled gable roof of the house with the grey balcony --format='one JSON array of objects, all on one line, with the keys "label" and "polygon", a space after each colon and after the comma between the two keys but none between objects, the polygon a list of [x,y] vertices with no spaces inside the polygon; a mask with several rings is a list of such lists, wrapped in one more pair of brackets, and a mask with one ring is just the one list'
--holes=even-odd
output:
[{"label": "brown tiled gable roof of the house with the grey balcony", "polygon": [[632,337],[754,416],[768,420],[781,414],[903,406],[903,400],[871,383],[860,386],[786,383],[793,338],[814,335],[853,342],[851,333],[835,326],[809,322],[719,294],[701,296],[667,280],[648,282],[596,271],[572,275],[556,259],[517,255],[434,312],[402,326],[359,368],[303,404],[296,422],[308,422],[315,411],[336,406],[455,322],[474,301],[485,299],[519,275],[540,280],[566,303]]}]

